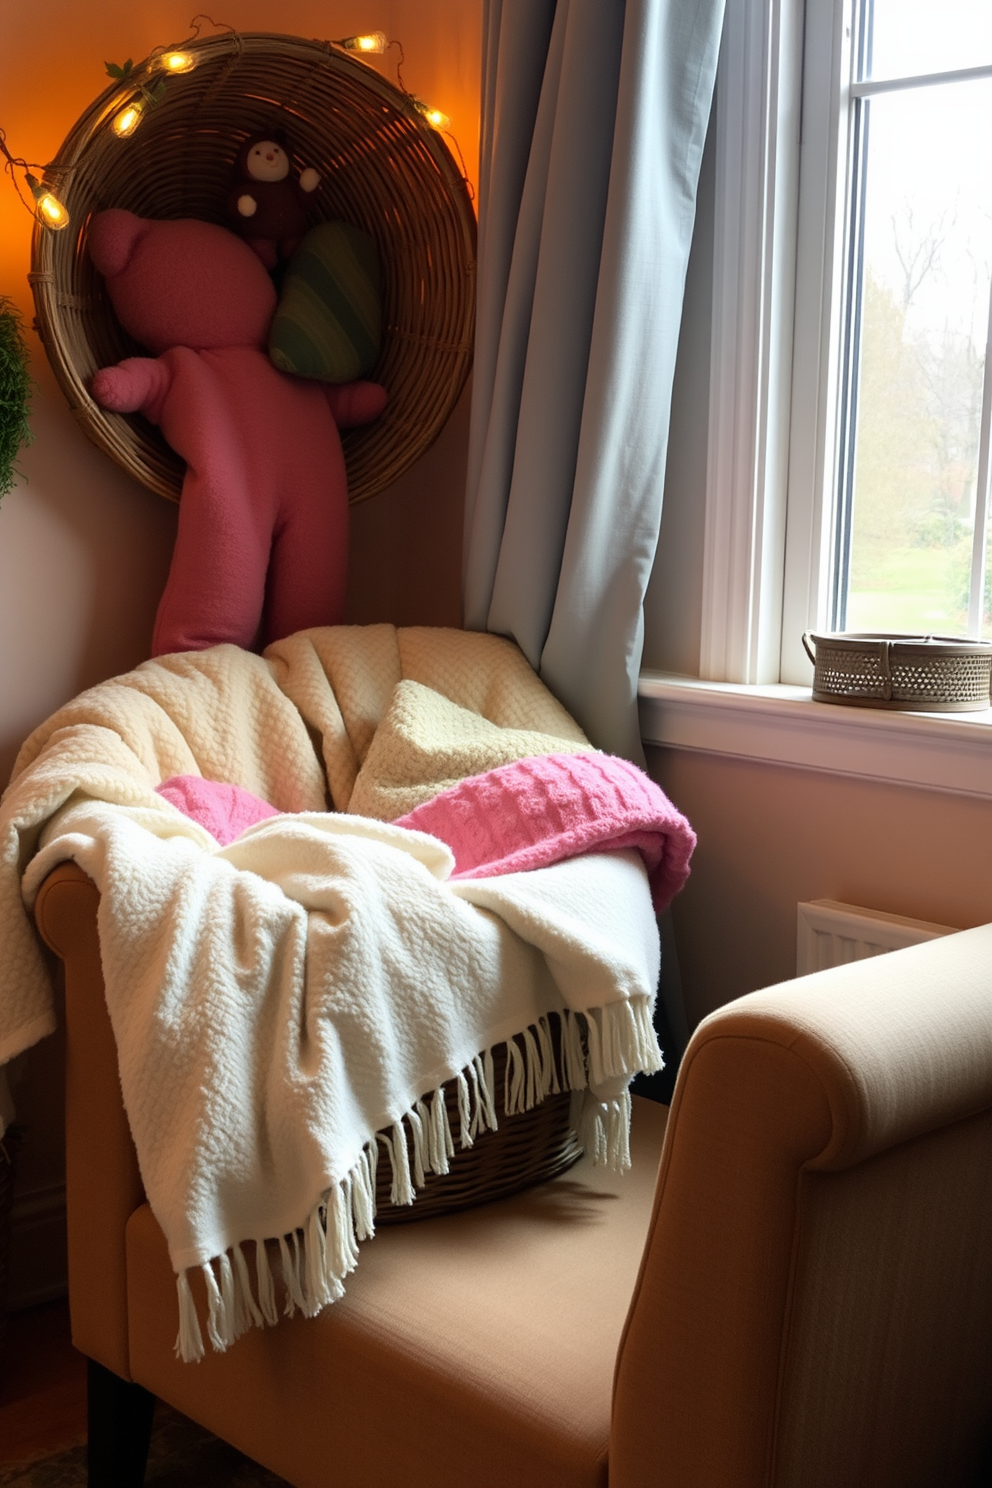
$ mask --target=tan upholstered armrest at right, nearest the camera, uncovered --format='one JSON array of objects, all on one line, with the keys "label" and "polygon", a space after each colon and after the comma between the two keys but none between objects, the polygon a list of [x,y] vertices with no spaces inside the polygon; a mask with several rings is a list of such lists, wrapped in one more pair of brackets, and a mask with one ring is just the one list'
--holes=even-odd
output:
[{"label": "tan upholstered armrest at right, nearest the camera, uncovered", "polygon": [[991,1051],[992,926],[699,1025],[617,1359],[610,1488],[965,1481],[992,1409]]}]

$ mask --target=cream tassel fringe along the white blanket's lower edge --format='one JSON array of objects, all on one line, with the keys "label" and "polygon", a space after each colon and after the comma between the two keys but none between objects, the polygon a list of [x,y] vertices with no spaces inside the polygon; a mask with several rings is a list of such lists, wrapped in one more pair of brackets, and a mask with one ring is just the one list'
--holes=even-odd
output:
[{"label": "cream tassel fringe along the white blanket's lower edge", "polygon": [[[635,1070],[660,1070],[662,1056],[645,998],[595,1007],[584,1013],[565,1009],[558,1018],[558,1056],[550,1019],[541,1018],[506,1043],[503,1107],[507,1116],[537,1106],[547,1095],[573,1091],[573,1120],[595,1164],[616,1171],[631,1167],[631,1097],[598,1098],[596,1086],[629,1077]],[[492,1051],[477,1054],[455,1076],[458,1141],[471,1147],[483,1131],[498,1126]],[[202,1274],[207,1293],[207,1336],[217,1353],[229,1348],[248,1327],[278,1321],[277,1284],[286,1317],[312,1317],[344,1296],[344,1281],[358,1263],[358,1242],[375,1234],[375,1189],[379,1143],[390,1159],[391,1204],[412,1204],[428,1173],[445,1174],[455,1155],[445,1091],[415,1101],[391,1128],[376,1132],[351,1173],[323,1193],[303,1225],[287,1235],[232,1245],[201,1266],[180,1271],[178,1338],[175,1353],[192,1363],[204,1357],[204,1338],[190,1287],[190,1274]],[[278,1256],[277,1275],[272,1262]],[[253,1284],[254,1272],[254,1284]]]}]

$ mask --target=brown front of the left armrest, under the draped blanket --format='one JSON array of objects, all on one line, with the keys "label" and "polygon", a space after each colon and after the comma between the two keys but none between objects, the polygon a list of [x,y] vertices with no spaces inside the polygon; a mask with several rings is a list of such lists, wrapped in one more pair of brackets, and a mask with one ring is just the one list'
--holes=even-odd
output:
[{"label": "brown front of the left armrest, under the draped blanket", "polygon": [[129,1378],[125,1226],[144,1202],[104,1000],[100,893],[74,863],[39,890],[34,918],[65,963],[65,1193],[73,1342]]}]

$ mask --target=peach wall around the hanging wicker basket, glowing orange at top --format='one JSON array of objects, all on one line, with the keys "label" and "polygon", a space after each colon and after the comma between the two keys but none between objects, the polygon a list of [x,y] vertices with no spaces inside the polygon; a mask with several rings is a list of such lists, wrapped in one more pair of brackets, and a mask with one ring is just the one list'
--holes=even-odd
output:
[{"label": "peach wall around the hanging wicker basket, glowing orange at top", "polygon": [[[183,39],[196,6],[177,0],[12,0],[0,48],[0,126],[13,155],[46,161],[106,86],[104,61]],[[471,180],[479,155],[482,0],[225,0],[238,30],[339,37],[382,30],[403,43],[403,80],[452,121]],[[376,65],[396,79],[396,51]],[[0,295],[33,317],[31,219],[0,180]],[[25,735],[64,701],[147,655],[175,507],[125,476],[74,424],[31,333],[37,391],[24,479],[0,501],[0,784]],[[461,507],[468,400],[393,488],[352,512],[348,618],[460,623]],[[57,1263],[46,1220],[62,1174],[61,1051],[28,1056],[18,1092],[28,1125],[19,1171],[15,1292]],[[42,1278],[39,1283],[37,1278]]]}]

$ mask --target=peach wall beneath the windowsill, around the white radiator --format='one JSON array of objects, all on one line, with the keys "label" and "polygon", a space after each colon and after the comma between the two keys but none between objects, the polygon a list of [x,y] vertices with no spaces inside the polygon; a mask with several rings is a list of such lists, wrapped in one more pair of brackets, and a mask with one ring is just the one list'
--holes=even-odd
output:
[{"label": "peach wall beneath the windowsill, around the white radiator", "polygon": [[992,921],[989,801],[677,748],[648,768],[699,835],[672,906],[690,1028],[796,975],[802,900]]}]

